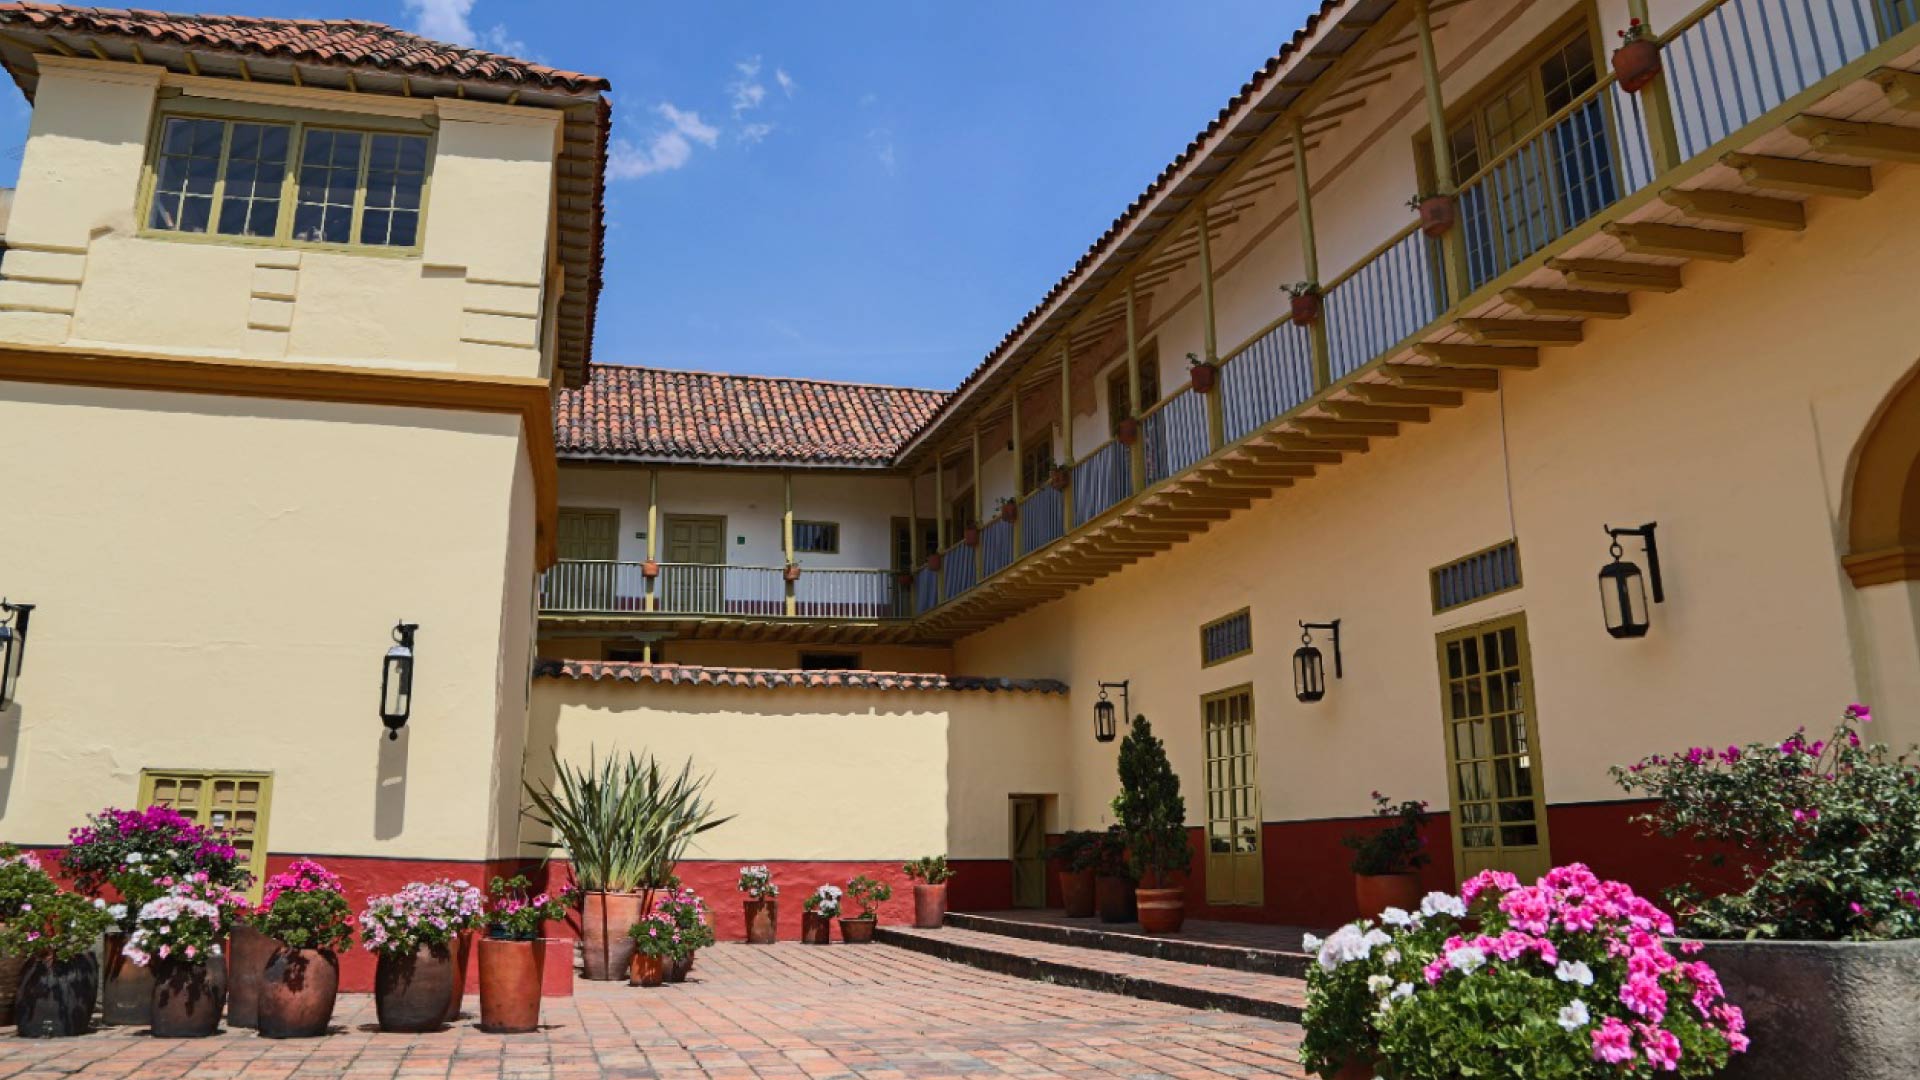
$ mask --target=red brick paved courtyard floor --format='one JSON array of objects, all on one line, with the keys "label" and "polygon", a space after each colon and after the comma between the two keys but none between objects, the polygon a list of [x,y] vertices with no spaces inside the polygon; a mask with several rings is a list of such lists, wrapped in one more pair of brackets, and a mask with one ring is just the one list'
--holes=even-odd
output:
[{"label": "red brick paved courtyard floor", "polygon": [[578,990],[549,999],[547,1028],[532,1036],[490,1036],[470,1017],[438,1034],[388,1036],[363,995],[342,997],[338,1034],[323,1040],[223,1032],[171,1042],[127,1028],[8,1036],[0,1078],[1306,1076],[1292,1024],[1027,982],[887,945],[720,945],[682,986]]}]

